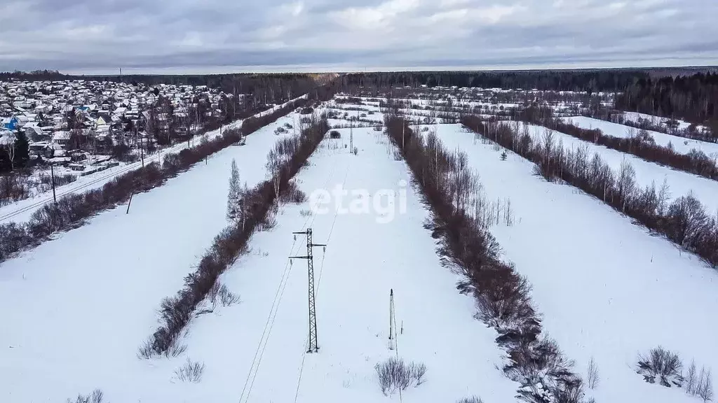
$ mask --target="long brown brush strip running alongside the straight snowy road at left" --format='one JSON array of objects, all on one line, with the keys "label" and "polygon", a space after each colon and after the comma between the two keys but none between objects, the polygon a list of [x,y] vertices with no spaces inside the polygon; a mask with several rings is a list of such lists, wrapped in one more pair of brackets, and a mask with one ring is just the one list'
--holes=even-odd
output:
[{"label": "long brown brush strip running alongside the straight snowy road at left", "polygon": [[57,204],[45,204],[38,209],[27,223],[1,224],[0,262],[20,250],[40,245],[57,231],[82,226],[89,217],[126,202],[132,194],[161,186],[167,179],[190,169],[195,163],[236,143],[243,136],[274,122],[305,103],[307,100],[296,100],[267,115],[247,118],[239,129],[227,130],[222,136],[203,141],[199,146],[185,148],[180,153],[165,156],[162,166],[156,162],[148,163],[142,168],[117,176],[101,189],[63,196],[57,199]]}]

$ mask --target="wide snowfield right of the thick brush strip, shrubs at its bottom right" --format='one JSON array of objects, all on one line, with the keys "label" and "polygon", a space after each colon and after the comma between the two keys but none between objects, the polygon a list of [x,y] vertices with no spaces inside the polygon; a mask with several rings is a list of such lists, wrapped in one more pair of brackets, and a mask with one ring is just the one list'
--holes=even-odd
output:
[{"label": "wide snowfield right of the thick brush strip, shrubs at its bottom right", "polygon": [[[631,224],[600,200],[533,174],[533,163],[474,141],[460,125],[439,125],[448,148],[465,151],[488,199],[510,198],[512,227],[493,227],[505,257],[533,285],[544,331],[585,377],[593,356],[597,402],[697,403],[684,389],[648,384],[639,353],[663,346],[707,367],[718,362],[718,274]],[[485,399],[487,402],[489,399]]]}]

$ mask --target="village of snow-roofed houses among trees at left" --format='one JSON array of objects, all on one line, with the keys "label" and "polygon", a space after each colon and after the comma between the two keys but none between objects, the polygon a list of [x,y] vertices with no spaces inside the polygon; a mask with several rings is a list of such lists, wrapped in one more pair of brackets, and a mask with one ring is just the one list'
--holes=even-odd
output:
[{"label": "village of snow-roofed houses among trees at left", "polygon": [[103,161],[129,162],[228,118],[238,102],[203,85],[0,81],[0,147],[7,148],[0,170],[8,163],[84,171]]}]

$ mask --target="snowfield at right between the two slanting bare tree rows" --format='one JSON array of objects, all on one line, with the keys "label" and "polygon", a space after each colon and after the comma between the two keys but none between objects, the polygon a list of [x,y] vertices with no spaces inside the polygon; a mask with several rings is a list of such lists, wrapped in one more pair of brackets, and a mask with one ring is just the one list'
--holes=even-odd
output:
[{"label": "snowfield at right between the two slanting bare tree rows", "polygon": [[[522,123],[519,124],[521,125]],[[546,128],[537,125],[529,125],[528,127],[531,131],[531,136],[537,141],[544,137]],[[628,161],[635,170],[635,182],[642,189],[645,188],[645,186],[650,186],[652,182],[655,182],[656,190],[658,191],[665,179],[671,190],[671,198],[686,196],[690,191],[693,191],[696,198],[707,208],[709,214],[718,212],[718,181],[645,161],[637,156],[615,151],[604,146],[598,146],[589,141],[579,140],[578,138],[558,131],[554,131],[554,140],[556,141],[556,145],[559,141],[562,141],[564,148],[576,149],[578,147],[588,147],[589,160],[594,153],[599,153],[601,158],[612,167],[614,172],[620,169],[621,163],[623,163],[624,160]]]}]

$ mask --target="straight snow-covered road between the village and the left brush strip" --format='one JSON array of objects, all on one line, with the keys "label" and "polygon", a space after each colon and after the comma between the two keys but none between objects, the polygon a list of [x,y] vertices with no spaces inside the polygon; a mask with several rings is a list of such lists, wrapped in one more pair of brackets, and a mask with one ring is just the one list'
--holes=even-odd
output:
[{"label": "straight snow-covered road between the village and the left brush strip", "polygon": [[[307,95],[302,95],[301,97],[294,98],[294,100],[291,100],[289,102],[294,102],[296,100],[306,98]],[[282,105],[279,105],[279,107],[288,105],[288,103],[284,103]],[[269,108],[268,110],[265,110],[261,113],[256,114],[255,116],[264,116],[269,113],[271,113],[273,110],[276,110],[279,107]],[[243,120],[236,120],[232,123],[229,123],[228,125],[223,126],[222,130],[227,129],[233,129],[233,128],[241,128]],[[202,137],[211,139],[215,138],[220,135],[220,129],[217,129],[215,131],[209,131],[205,133],[202,136],[194,136],[193,140],[190,141],[190,146],[195,146],[196,144],[200,143],[200,139]],[[157,153],[150,154],[145,156],[145,162],[151,162],[151,161],[158,161],[158,158],[164,158],[167,154],[170,153],[179,153],[180,151],[187,148],[187,142],[178,143],[175,146],[172,146],[170,148],[164,148],[162,150],[159,150]],[[104,186],[106,183],[111,181],[115,178],[115,176],[125,174],[129,171],[134,171],[135,169],[139,169],[142,166],[142,161],[138,161],[135,163],[121,163],[119,166],[113,167],[111,169],[106,169],[105,171],[100,171],[95,174],[90,174],[87,176],[78,176],[78,179],[70,184],[66,184],[64,186],[57,186],[55,188],[55,192],[57,197],[65,196],[67,194],[73,194],[78,192],[85,192],[90,191],[92,189],[98,189]],[[45,191],[40,194],[36,194],[33,197],[29,199],[19,200],[11,204],[7,204],[5,206],[0,207],[0,223],[2,222],[26,222],[29,220],[30,217],[32,217],[32,213],[34,213],[37,209],[44,206],[47,203],[50,203],[53,200],[52,196],[52,190]]]}]

